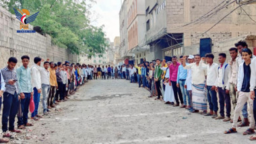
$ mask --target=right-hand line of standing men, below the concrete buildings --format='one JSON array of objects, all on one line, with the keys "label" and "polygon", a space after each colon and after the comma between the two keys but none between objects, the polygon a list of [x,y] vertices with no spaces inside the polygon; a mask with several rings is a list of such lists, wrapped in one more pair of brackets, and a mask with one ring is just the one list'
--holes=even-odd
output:
[{"label": "right-hand line of standing men, below the concrete buildings", "polygon": [[[229,49],[231,60],[226,61],[228,56],[220,53],[219,63],[214,63],[212,53],[205,57],[173,56],[167,62],[156,59],[149,63],[144,59],[139,65],[129,65],[129,79],[131,83],[137,81],[139,87],[142,83],[142,87],[150,90],[149,97],[157,96],[156,100],[165,104],[232,122],[232,128],[224,131],[225,134],[237,133],[236,127],[249,127],[243,135],[252,135],[256,120],[256,59],[245,41],[234,45]],[[249,139],[256,140],[256,135]]]}]

